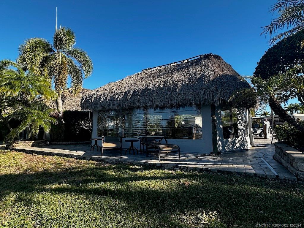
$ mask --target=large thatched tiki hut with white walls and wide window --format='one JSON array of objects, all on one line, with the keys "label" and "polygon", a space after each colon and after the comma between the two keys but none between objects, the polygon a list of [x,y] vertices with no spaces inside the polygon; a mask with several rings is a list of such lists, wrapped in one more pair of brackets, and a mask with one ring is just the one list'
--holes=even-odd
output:
[{"label": "large thatched tiki hut with white walls and wide window", "polygon": [[249,104],[232,106],[230,97],[250,88],[222,57],[205,54],[92,90],[81,108],[93,111],[92,137],[163,135],[187,152],[242,150],[250,148]]}]

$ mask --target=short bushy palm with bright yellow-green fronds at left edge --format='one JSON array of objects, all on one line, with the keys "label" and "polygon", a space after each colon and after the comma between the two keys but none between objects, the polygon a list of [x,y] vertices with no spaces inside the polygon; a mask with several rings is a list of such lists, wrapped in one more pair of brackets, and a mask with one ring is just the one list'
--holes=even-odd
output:
[{"label": "short bushy palm with bright yellow-green fronds at left edge", "polygon": [[[15,64],[16,66],[16,64]],[[21,67],[6,69],[0,75],[0,97],[10,109],[5,118],[8,122],[12,119],[21,120],[22,123],[15,129],[9,128],[7,139],[13,140],[23,130],[28,131],[28,136],[37,136],[39,128],[46,132],[55,119],[50,117],[49,109],[44,100],[56,98],[56,93],[51,88],[50,78],[37,75],[32,71],[24,71]]]}]

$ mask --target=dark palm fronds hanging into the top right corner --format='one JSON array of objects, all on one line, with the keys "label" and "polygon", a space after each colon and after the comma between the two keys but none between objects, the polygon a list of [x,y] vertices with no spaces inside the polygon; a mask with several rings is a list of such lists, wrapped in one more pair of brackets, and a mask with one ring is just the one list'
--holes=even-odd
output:
[{"label": "dark palm fronds hanging into the top right corner", "polygon": [[[269,34],[269,36],[278,33],[269,40],[270,44],[274,44],[278,40],[282,40],[287,36],[296,34],[297,40],[304,40],[304,0],[278,0],[273,5],[270,12],[277,12],[277,18],[273,19],[270,25],[265,26],[261,34]],[[302,47],[304,43],[302,42]]]}]

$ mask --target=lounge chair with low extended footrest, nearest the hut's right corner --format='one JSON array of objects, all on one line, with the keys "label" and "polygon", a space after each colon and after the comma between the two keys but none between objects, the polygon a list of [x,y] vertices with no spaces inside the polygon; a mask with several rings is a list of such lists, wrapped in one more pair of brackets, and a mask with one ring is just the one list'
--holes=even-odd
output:
[{"label": "lounge chair with low extended footrest, nearest the hut's right corner", "polygon": [[146,156],[148,156],[148,149],[154,149],[154,151],[158,150],[158,161],[161,161],[161,153],[168,155],[168,152],[178,152],[179,160],[181,160],[181,149],[179,146],[168,143],[166,139],[166,143],[161,143],[161,140],[157,142],[154,137],[145,137]]}]

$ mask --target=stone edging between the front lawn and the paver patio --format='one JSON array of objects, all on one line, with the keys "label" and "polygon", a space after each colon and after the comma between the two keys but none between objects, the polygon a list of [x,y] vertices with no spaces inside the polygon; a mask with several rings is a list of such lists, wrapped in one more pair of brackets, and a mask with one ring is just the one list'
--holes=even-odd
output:
[{"label": "stone edging between the front lawn and the paver patio", "polygon": [[[76,158],[76,159],[85,159],[85,160],[92,160],[92,161],[102,161],[105,163],[110,164],[139,164],[139,165],[145,165],[150,167],[158,167],[163,169],[171,169],[171,170],[183,170],[183,171],[209,171],[209,172],[219,172],[219,173],[234,173],[239,175],[246,175],[246,176],[256,176],[256,177],[263,177],[263,178],[271,178],[275,179],[275,175],[266,175],[265,172],[252,172],[252,170],[249,171],[243,171],[238,170],[237,168],[230,170],[230,168],[219,168],[219,167],[213,167],[212,165],[176,165],[176,164],[164,164],[162,162],[148,162],[148,161],[134,161],[127,158],[109,158],[109,157],[94,157],[94,156],[88,156],[88,155],[76,155],[76,154],[63,154],[63,153],[56,153],[56,152],[46,152],[46,151],[40,151],[40,150],[29,150],[26,148],[11,148],[11,150],[24,152],[27,154],[38,154],[38,155],[49,155],[49,156],[60,156],[60,157],[70,157],[70,158]],[[292,179],[285,179],[288,181],[297,181],[296,178]]]}]

